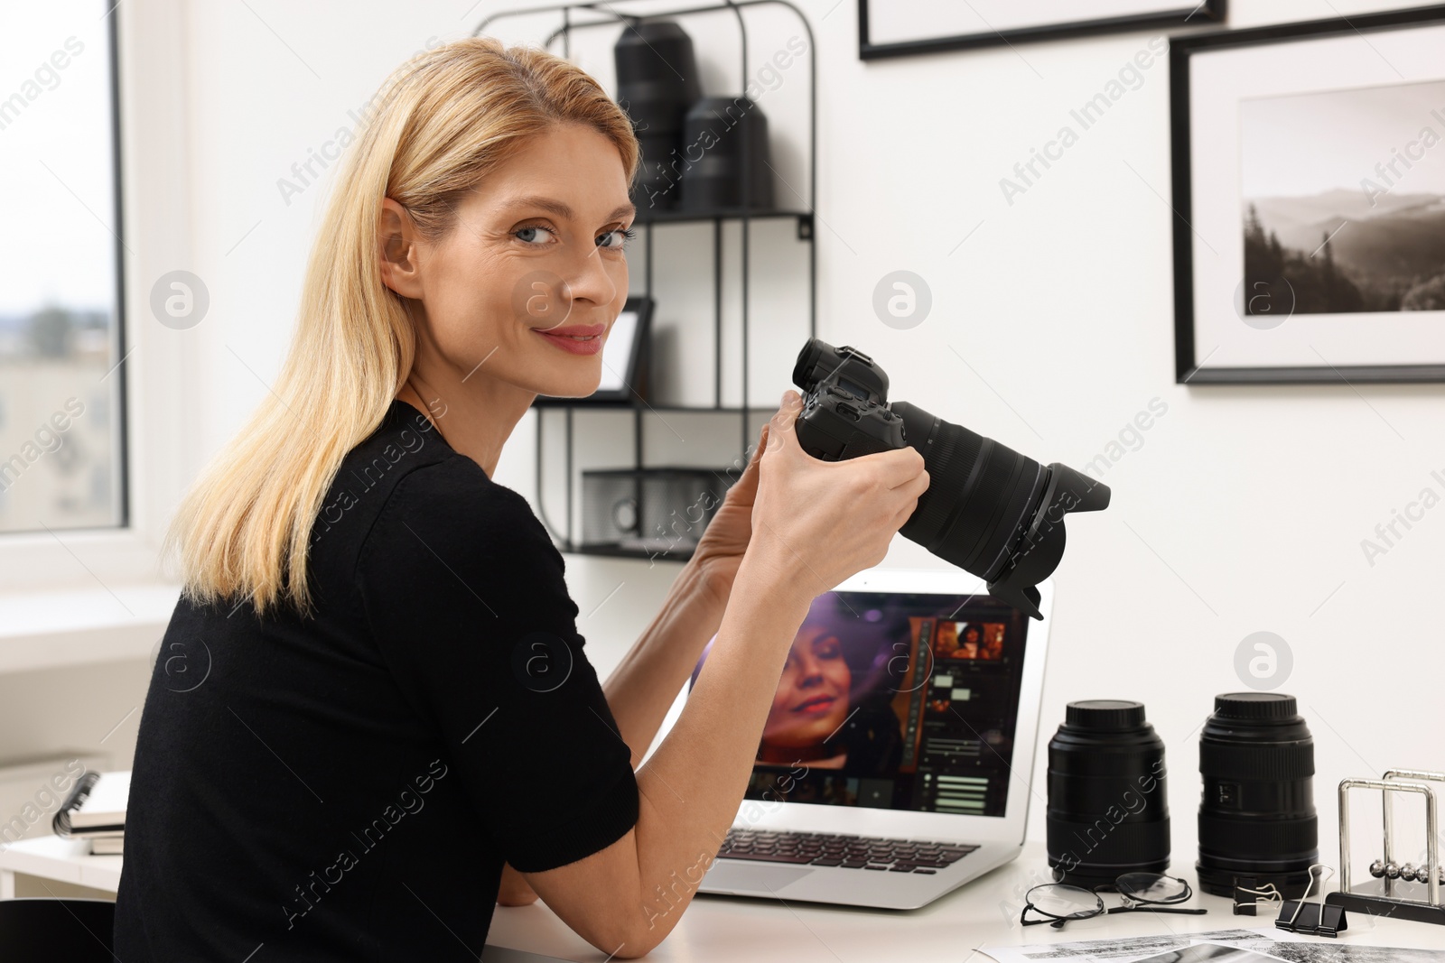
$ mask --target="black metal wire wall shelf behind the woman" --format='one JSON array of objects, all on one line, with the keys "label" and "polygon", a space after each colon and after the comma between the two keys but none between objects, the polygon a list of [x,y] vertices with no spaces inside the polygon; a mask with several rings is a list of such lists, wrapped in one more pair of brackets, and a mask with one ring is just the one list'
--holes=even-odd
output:
[{"label": "black metal wire wall shelf behind the woman", "polygon": [[[646,243],[646,260],[644,260],[644,286],[640,292],[642,295],[652,297],[653,295],[653,232],[666,231],[670,225],[676,224],[712,224],[711,232],[711,248],[712,248],[712,328],[714,328],[714,401],[712,404],[659,404],[642,398],[633,391],[633,398],[630,401],[617,403],[597,403],[597,401],[568,401],[561,398],[546,398],[539,400],[533,407],[536,411],[536,504],[538,514],[542,518],[542,524],[546,526],[548,531],[552,534],[553,541],[562,552],[577,552],[582,554],[604,554],[611,557],[656,557],[656,553],[646,552],[629,552],[618,547],[597,547],[597,546],[581,546],[575,537],[574,526],[574,413],[582,411],[607,411],[613,416],[620,416],[623,413],[631,414],[631,448],[633,448],[633,462],[634,469],[647,468],[646,452],[643,443],[643,422],[649,416],[660,417],[663,413],[689,413],[689,414],[711,414],[711,416],[725,416],[738,420],[740,427],[740,456],[746,459],[747,448],[753,442],[751,436],[751,422],[750,419],[760,409],[751,407],[749,404],[749,280],[751,266],[749,263],[750,243],[751,243],[751,227],[753,221],[776,221],[776,219],[793,219],[796,221],[796,240],[801,244],[808,245],[808,336],[816,336],[818,334],[818,250],[814,235],[814,211],[816,209],[818,201],[818,64],[816,52],[814,43],[812,26],[793,3],[788,0],[722,0],[721,3],[709,3],[704,0],[696,6],[657,10],[647,4],[646,13],[636,12],[637,7],[643,6],[639,0],[595,0],[582,3],[564,3],[555,6],[540,6],[527,9],[512,9],[493,13],[491,16],[481,20],[477,29],[473,30],[473,36],[480,36],[493,23],[507,19],[507,17],[532,17],[538,14],[555,13],[561,17],[561,25],[548,35],[545,40],[546,49],[553,49],[553,46],[561,46],[561,55],[564,58],[571,56],[571,43],[574,32],[611,27],[616,29],[618,25],[623,29],[631,29],[640,20],[650,19],[673,19],[685,23],[686,17],[695,17],[698,14],[707,13],[731,13],[737,20],[737,29],[741,38],[741,71],[740,71],[740,91],[747,87],[749,77],[749,30],[747,23],[743,16],[744,10],[751,7],[780,7],[799,22],[803,32],[808,36],[808,196],[798,198],[799,202],[806,205],[806,209],[757,209],[757,208],[727,208],[717,211],[679,211],[679,209],[646,209],[640,208],[634,224],[642,225],[643,237]],[[746,126],[743,128],[743,153],[747,153],[747,131]],[[741,196],[751,196],[747,185],[747,167],[743,165],[743,182],[741,182]],[[724,277],[722,277],[722,232],[727,224],[737,224],[740,228],[740,243],[741,243],[741,261],[738,267],[738,303],[741,310],[741,406],[724,406],[722,404],[722,295],[724,295]],[[629,385],[630,388],[630,385]],[[549,416],[559,414],[564,420],[565,432],[565,476],[566,476],[566,515],[565,526],[559,530],[548,518],[546,502],[545,502],[545,487],[543,487],[543,462],[545,462],[545,436],[546,423]],[[673,552],[663,557],[683,560],[686,553]]]}]

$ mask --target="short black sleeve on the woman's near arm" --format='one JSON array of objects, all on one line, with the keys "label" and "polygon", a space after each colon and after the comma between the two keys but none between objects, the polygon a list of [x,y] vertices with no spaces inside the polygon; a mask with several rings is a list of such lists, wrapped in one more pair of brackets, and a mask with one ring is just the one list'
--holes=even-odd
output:
[{"label": "short black sleeve on the woman's near arm", "polygon": [[522,495],[461,456],[412,471],[357,583],[381,657],[512,866],[565,866],[636,824],[631,757],[562,556]]}]

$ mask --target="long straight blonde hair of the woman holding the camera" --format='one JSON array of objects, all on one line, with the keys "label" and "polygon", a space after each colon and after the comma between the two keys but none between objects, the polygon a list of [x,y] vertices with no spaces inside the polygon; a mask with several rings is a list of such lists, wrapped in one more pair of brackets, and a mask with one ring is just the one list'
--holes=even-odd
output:
[{"label": "long straight blonde hair of the woman holding the camera", "polygon": [[608,137],[629,180],[637,140],[627,116],[579,68],[491,38],[412,58],[373,98],[342,159],[302,287],[275,388],[182,500],[163,553],[179,550],[184,595],[197,603],[280,601],[309,614],[311,528],[342,458],[377,429],[410,374],[406,299],[377,266],[381,199],[410,214],[428,241],[523,143],[559,123]]}]

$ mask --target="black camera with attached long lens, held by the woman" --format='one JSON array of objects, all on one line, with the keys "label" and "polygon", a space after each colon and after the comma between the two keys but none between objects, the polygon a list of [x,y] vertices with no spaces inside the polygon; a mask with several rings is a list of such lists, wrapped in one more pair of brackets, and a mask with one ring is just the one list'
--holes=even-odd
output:
[{"label": "black camera with attached long lens, held by the woman", "polygon": [[1035,586],[1064,557],[1064,515],[1107,508],[1107,485],[907,401],[890,404],[889,375],[857,348],[811,339],[793,384],[803,393],[796,430],[805,452],[835,462],[912,446],[929,485],[899,533],[984,579],[994,598],[1043,618]]}]

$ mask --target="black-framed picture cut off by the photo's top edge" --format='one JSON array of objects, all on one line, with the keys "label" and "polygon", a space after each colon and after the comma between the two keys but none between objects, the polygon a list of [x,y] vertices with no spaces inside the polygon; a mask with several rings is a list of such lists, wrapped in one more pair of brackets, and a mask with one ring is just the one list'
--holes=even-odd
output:
[{"label": "black-framed picture cut off by the photo's top edge", "polygon": [[858,0],[858,58],[1221,23],[1225,0]]}]

